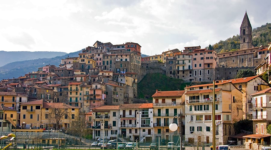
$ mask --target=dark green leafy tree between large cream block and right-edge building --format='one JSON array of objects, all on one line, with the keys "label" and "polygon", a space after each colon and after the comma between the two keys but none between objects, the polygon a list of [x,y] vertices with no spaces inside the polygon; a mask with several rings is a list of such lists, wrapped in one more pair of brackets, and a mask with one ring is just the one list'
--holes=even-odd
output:
[{"label": "dark green leafy tree between large cream block and right-edge building", "polygon": [[233,126],[235,130],[235,134],[242,133],[241,130],[253,132],[252,120],[248,120],[248,119],[240,120],[238,122],[235,122]]}]

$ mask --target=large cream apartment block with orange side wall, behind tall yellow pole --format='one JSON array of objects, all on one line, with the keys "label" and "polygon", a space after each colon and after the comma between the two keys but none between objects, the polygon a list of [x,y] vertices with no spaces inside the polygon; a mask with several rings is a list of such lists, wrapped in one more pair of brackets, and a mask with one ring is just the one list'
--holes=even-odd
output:
[{"label": "large cream apartment block with orange side wall, behind tall yellow pole", "polygon": [[[213,104],[213,92],[215,102]],[[195,85],[185,88],[185,141],[188,143],[211,143],[212,108],[215,106],[216,143],[227,144],[228,137],[234,135],[233,121],[243,117],[242,102],[244,92],[232,82]],[[189,130],[188,130],[189,129]]]}]

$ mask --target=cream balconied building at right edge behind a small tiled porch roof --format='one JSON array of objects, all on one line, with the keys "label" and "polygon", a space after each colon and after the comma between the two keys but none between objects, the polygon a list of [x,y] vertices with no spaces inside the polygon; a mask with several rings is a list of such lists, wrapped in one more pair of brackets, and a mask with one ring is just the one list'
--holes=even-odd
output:
[{"label": "cream balconied building at right edge behind a small tiled porch roof", "polygon": [[261,149],[262,146],[270,144],[271,135],[267,133],[270,124],[271,113],[271,88],[258,91],[252,96],[253,134],[244,136],[246,138],[246,149]]}]

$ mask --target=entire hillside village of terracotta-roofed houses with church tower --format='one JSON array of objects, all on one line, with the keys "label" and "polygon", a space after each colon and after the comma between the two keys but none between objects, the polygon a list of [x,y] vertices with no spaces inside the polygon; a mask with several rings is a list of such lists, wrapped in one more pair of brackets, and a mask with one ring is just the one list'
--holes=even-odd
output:
[{"label": "entire hillside village of terracotta-roofed houses with church tower", "polygon": [[[82,49],[78,57],[62,59],[59,66],[45,65],[18,78],[3,79],[0,129],[67,129],[79,113],[84,113],[94,139],[105,136],[143,142],[160,137],[176,141],[178,130],[170,131],[169,124],[179,116],[183,141],[212,143],[215,99],[216,143],[227,144],[235,138],[248,149],[269,145],[271,135],[266,127],[271,120],[267,116],[271,89],[261,76],[271,62],[271,43],[252,46],[247,13],[240,37],[238,51],[216,53],[188,46],[143,58],[138,43],[96,41]],[[238,70],[247,68],[255,70],[255,76],[235,79]],[[146,74],[157,72],[187,82],[215,80],[214,88],[213,84],[204,84],[179,91],[156,90],[153,103],[135,104],[137,83]],[[64,115],[56,117],[59,113]],[[235,135],[233,123],[242,119],[253,120],[253,133]]]}]

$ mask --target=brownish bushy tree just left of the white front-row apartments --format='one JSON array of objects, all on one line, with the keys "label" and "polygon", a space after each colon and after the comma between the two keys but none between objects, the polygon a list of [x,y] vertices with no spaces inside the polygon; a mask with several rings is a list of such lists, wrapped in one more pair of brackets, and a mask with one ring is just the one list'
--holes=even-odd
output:
[{"label": "brownish bushy tree just left of the white front-row apartments", "polygon": [[75,120],[70,124],[68,132],[73,135],[77,135],[82,139],[89,134],[92,134],[92,130],[87,127],[86,116],[84,113],[80,113],[75,116]]}]

